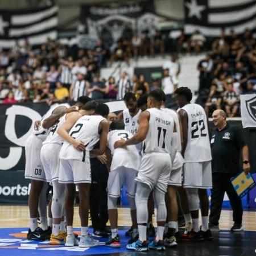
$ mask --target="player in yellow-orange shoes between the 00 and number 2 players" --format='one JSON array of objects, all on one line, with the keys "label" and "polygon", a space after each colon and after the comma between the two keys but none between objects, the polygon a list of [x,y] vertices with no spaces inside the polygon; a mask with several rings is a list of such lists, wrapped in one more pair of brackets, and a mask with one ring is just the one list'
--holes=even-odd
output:
[{"label": "player in yellow-orange shoes between the 00 and number 2 players", "polygon": [[[81,108],[86,102],[90,101],[89,97],[82,96],[76,103],[76,106]],[[53,122],[54,115],[46,118],[43,122],[43,127],[46,127],[48,123]],[[52,183],[53,195],[52,195],[52,234],[50,238],[51,245],[61,245],[65,243],[66,230],[64,224],[64,200],[65,200],[65,186],[59,184],[59,152],[63,143],[63,139],[56,133],[57,128],[65,122],[66,119],[72,118],[76,115],[80,115],[78,112],[72,112],[64,114],[60,117],[52,126],[46,140],[43,142],[41,148],[40,158],[46,174],[46,180]],[[62,220],[61,220],[62,218]]]}]

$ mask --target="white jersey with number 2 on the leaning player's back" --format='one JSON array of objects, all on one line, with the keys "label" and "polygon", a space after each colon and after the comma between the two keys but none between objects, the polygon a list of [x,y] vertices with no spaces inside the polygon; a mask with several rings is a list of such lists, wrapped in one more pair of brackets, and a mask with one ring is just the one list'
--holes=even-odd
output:
[{"label": "white jersey with number 2 on the leaning player's back", "polygon": [[[100,122],[106,120],[101,115],[83,115],[80,117],[72,129],[69,131],[69,135],[72,138],[82,141],[85,144],[85,151],[89,155],[89,151],[93,149],[94,144],[96,144],[100,139],[100,134],[98,134],[98,126]],[[60,159],[85,159],[86,152],[79,151],[72,144],[64,141],[63,146],[60,150]]]}]

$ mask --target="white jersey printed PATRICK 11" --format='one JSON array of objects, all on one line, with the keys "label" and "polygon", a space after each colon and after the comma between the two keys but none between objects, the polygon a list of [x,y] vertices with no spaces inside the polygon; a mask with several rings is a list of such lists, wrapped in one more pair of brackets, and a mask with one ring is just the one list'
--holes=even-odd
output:
[{"label": "white jersey printed PATRICK 11", "polygon": [[171,138],[174,119],[162,109],[147,109],[150,113],[147,136],[143,141],[143,153],[159,152],[171,154]]}]

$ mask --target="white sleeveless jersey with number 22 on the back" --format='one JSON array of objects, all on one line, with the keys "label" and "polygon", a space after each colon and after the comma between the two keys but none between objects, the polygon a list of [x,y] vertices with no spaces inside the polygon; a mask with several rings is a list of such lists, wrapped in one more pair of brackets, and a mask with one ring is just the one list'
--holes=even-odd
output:
[{"label": "white sleeveless jersey with number 22 on the back", "polygon": [[204,109],[198,104],[187,104],[181,109],[185,110],[188,115],[188,141],[184,153],[185,162],[197,163],[212,160],[207,115]]}]

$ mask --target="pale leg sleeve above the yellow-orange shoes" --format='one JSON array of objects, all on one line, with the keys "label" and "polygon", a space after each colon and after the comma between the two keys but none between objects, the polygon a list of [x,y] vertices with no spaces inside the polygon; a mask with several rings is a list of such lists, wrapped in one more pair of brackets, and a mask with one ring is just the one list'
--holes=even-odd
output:
[{"label": "pale leg sleeve above the yellow-orange shoes", "polygon": [[64,214],[65,184],[60,184],[58,181],[53,181],[52,187],[52,217],[61,218]]}]

